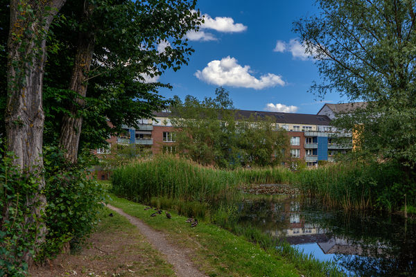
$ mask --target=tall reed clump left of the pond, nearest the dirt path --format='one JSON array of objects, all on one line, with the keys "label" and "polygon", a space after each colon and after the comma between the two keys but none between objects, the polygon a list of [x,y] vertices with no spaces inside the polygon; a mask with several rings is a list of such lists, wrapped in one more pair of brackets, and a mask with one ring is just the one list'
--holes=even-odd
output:
[{"label": "tall reed clump left of the pond, nearest the dirt path", "polygon": [[177,157],[160,156],[114,170],[112,184],[116,195],[137,202],[148,202],[152,197],[214,202],[233,197],[239,180],[230,171],[202,167]]}]

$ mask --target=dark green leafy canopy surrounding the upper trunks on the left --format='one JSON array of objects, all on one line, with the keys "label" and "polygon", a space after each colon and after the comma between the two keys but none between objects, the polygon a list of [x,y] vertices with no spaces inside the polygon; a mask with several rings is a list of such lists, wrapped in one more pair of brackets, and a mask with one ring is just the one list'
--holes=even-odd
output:
[{"label": "dark green leafy canopy surrounding the upper trunks on the left", "polygon": [[[0,38],[0,60],[6,64],[9,8],[8,1],[1,1],[0,33],[5,35]],[[82,17],[85,3],[94,5],[88,19]],[[71,105],[79,106],[76,116],[83,117],[80,149],[98,148],[109,134],[121,132],[122,125],[135,126],[138,118],[151,117],[153,111],[168,105],[157,89],[170,85],[157,82],[157,76],[169,68],[180,69],[189,61],[193,49],[184,35],[202,22],[199,12],[193,11],[195,4],[193,0],[66,3],[53,21],[46,44],[44,143],[58,142],[62,118]],[[69,89],[81,31],[95,37],[82,106]],[[3,83],[6,69],[0,71]],[[1,134],[5,132],[6,85],[0,89]]]}]

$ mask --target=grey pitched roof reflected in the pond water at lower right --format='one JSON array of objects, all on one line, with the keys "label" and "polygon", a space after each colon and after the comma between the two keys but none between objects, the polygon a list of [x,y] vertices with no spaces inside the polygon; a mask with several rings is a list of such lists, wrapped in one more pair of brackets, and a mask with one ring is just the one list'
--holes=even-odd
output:
[{"label": "grey pitched roof reflected in the pond water at lower right", "polygon": [[333,237],[327,242],[318,242],[318,246],[325,254],[376,256],[381,255],[386,251],[386,246],[381,243],[366,245],[361,241],[347,240],[338,237]]}]

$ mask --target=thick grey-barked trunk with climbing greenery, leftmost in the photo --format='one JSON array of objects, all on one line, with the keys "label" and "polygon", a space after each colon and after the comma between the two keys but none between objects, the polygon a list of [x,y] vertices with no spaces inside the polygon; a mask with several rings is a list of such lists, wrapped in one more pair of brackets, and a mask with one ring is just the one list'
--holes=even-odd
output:
[{"label": "thick grey-barked trunk with climbing greenery, leftmost in the photo", "polygon": [[[37,177],[35,195],[27,195],[26,205],[32,215],[25,218],[26,227],[35,224],[37,235],[35,253],[44,242],[46,227],[39,222],[44,214],[46,197],[42,175],[42,135],[44,111],[42,82],[46,57],[46,34],[53,17],[65,0],[11,0],[10,32],[8,35],[8,100],[5,114],[8,151],[16,155],[15,165],[21,172]],[[46,8],[48,7],[48,8]],[[24,260],[31,263],[30,253]]]}]

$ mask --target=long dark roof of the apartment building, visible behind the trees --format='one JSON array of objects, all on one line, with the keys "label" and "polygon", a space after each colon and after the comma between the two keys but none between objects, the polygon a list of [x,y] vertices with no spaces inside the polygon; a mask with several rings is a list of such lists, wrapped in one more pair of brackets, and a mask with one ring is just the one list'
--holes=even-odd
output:
[{"label": "long dark roof of the apartment building, visible behind the trees", "polygon": [[[237,119],[249,118],[250,116],[264,118],[270,116],[275,118],[276,123],[291,123],[291,124],[309,124],[309,125],[329,125],[331,119],[328,116],[320,116],[317,114],[293,114],[275,111],[246,111],[236,110]],[[171,112],[160,111],[155,112],[155,116],[169,117]]]}]

